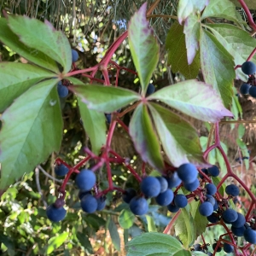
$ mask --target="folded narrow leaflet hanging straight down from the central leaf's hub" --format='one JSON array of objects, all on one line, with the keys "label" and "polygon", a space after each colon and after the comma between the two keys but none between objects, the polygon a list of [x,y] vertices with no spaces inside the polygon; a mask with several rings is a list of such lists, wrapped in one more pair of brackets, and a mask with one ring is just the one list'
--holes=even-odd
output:
[{"label": "folded narrow leaflet hanging straight down from the central leaf's hub", "polygon": [[164,168],[162,156],[160,154],[160,143],[154,132],[148,108],[143,104],[138,105],[134,111],[129,131],[137,152],[144,162],[155,169],[161,171]]}]

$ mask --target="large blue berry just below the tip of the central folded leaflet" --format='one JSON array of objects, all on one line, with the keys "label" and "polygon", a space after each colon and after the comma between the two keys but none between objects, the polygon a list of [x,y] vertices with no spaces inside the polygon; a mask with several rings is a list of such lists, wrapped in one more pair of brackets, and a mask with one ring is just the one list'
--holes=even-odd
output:
[{"label": "large blue berry just below the tip of the central folded leaflet", "polygon": [[141,183],[141,190],[147,197],[155,197],[160,194],[160,181],[156,177],[144,177]]}]

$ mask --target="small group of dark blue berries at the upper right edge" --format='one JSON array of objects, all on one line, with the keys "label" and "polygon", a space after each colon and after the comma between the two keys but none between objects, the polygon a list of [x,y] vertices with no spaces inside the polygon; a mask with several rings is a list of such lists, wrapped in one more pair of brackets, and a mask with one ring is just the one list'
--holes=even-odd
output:
[{"label": "small group of dark blue berries at the upper right edge", "polygon": [[256,73],[256,65],[252,61],[246,61],[241,65],[241,71],[249,75],[247,83],[241,84],[241,94],[250,95],[253,98],[256,98],[256,80],[254,77],[254,73]]}]

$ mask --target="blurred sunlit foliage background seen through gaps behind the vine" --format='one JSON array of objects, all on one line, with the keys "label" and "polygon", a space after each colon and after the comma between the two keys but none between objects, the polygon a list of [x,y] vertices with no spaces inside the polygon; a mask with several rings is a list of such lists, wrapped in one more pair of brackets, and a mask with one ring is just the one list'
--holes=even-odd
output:
[{"label": "blurred sunlit foliage background seen through gaps behind the vine", "polygon": [[[92,67],[101,60],[102,55],[122,32],[125,31],[131,15],[142,5],[144,1],[120,0],[120,1],[48,1],[48,0],[21,0],[1,1],[0,10],[19,15],[29,15],[39,20],[47,19],[56,28],[63,30],[69,38],[73,48],[79,49],[79,67]],[[148,1],[148,5],[154,1]],[[154,10],[153,15],[177,15],[177,1],[161,1]],[[248,1],[247,1],[248,2]],[[255,6],[251,6],[256,9]],[[241,17],[245,15],[239,9]],[[252,11],[254,14],[255,12]],[[170,67],[166,67],[165,40],[175,19],[161,19],[152,17],[150,24],[154,28],[158,38],[160,49],[160,61],[152,78],[157,89],[167,84],[174,84],[183,80],[179,73],[172,73]],[[223,20],[214,20],[220,22]],[[8,47],[0,44],[0,61],[24,61]],[[134,69],[131,61],[131,53],[127,44],[113,56],[120,66]],[[113,73],[114,75],[114,73]],[[101,73],[97,74],[101,77]],[[132,90],[139,90],[137,79],[133,75],[124,73],[120,76],[119,84]],[[128,86],[127,86],[128,85]],[[237,87],[239,84],[237,84]],[[239,98],[245,119],[254,119],[255,102]],[[34,172],[26,174],[22,180],[8,189],[0,201],[0,242],[3,255],[125,255],[125,244],[134,236],[143,231],[162,231],[171,219],[170,212],[161,210],[157,206],[151,206],[148,218],[137,218],[129,215],[127,206],[121,203],[118,193],[108,195],[108,207],[106,210],[87,214],[79,210],[78,189],[69,184],[67,194],[68,214],[61,224],[51,224],[45,216],[45,207],[55,201],[55,191],[60,184],[55,177],[53,163],[56,156],[60,156],[67,163],[73,164],[81,159],[82,148],[88,145],[88,137],[84,134],[79,121],[79,113],[73,96],[67,97],[62,103],[64,119],[64,137],[61,152],[52,154],[44,165],[38,166]],[[125,123],[128,124],[127,116]],[[1,124],[0,124],[1,125]],[[207,137],[210,127],[199,121],[194,125],[201,132],[201,143],[204,145],[204,137]],[[242,127],[246,128],[244,135]],[[256,155],[255,144],[256,131],[254,125],[221,125],[222,141],[227,145],[230,160],[236,166],[241,177],[247,179],[252,191],[255,189],[255,165],[253,156]],[[242,138],[251,149],[251,166],[245,171],[245,167],[236,162],[241,152],[236,139]],[[115,132],[113,137],[113,149],[121,155],[132,160],[132,165],[141,167],[141,161],[128,137],[124,136],[121,129]],[[218,155],[212,154],[212,163],[219,162]],[[222,163],[219,162],[221,165]],[[124,183],[124,187],[133,186],[134,180],[119,166],[112,166],[115,183]],[[147,171],[152,172],[147,166]],[[102,170],[104,173],[104,169]],[[102,174],[102,187],[104,183]],[[241,207],[246,207],[247,198],[239,198]],[[125,228],[125,229],[122,229]],[[213,233],[215,236],[213,236]],[[221,230],[210,230],[206,237],[209,243],[213,242],[216,234]],[[1,255],[2,255],[1,254]],[[219,254],[220,255],[220,254]]]}]

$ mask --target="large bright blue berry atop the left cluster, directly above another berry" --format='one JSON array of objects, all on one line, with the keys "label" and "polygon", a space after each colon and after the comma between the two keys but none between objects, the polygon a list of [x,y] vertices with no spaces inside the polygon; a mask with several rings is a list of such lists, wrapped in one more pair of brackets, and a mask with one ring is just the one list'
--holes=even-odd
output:
[{"label": "large bright blue berry atop the left cluster, directly above another berry", "polygon": [[96,175],[90,170],[83,169],[79,172],[75,181],[79,189],[90,190],[96,183]]}]

